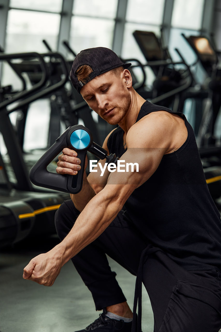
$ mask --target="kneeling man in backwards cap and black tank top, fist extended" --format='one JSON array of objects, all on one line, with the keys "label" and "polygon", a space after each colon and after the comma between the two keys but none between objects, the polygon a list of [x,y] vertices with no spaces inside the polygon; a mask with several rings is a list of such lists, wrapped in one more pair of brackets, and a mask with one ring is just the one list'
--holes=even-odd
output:
[{"label": "kneeling man in backwards cap and black tank top, fist extended", "polygon": [[[142,280],[154,313],[154,332],[217,332],[221,222],[193,130],[182,113],[139,96],[127,67],[110,49],[91,48],[76,56],[70,77],[99,116],[119,125],[103,147],[125,163],[137,163],[139,171],[117,167],[115,172],[106,169],[103,176],[99,168],[88,177],[84,173],[82,191],[71,195],[56,214],[61,243],[32,259],[23,277],[51,286],[72,259],[96,309],[104,309],[82,331],[130,331],[132,311],[107,253],[132,274],[139,270],[138,288]],[[57,173],[77,174],[80,162],[75,151],[65,148]],[[105,161],[100,162],[104,166]]]}]

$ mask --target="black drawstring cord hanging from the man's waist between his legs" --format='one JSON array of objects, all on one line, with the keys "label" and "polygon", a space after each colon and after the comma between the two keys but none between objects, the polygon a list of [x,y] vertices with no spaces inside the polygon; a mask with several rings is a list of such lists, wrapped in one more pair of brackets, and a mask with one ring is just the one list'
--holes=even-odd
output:
[{"label": "black drawstring cord hanging from the man's waist between his legs", "polygon": [[[132,329],[131,332],[142,332],[141,327],[141,318],[142,318],[142,275],[143,275],[143,264],[144,258],[146,259],[148,255],[160,251],[159,248],[153,248],[148,246],[145,248],[140,256],[140,262],[137,270],[137,277],[135,283],[135,292],[134,292],[134,302],[133,302],[133,321],[132,321]],[[148,252],[148,255],[147,255]],[[136,310],[137,310],[137,302],[138,302],[138,315],[136,320]]]}]

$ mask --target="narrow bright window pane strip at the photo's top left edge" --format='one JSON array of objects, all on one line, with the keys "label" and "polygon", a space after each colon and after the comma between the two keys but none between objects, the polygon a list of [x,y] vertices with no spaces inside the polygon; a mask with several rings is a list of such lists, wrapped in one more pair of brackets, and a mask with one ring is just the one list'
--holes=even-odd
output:
[{"label": "narrow bright window pane strip at the photo's top left edge", "polygon": [[45,10],[58,13],[62,8],[62,0],[10,0],[10,7],[34,10]]}]

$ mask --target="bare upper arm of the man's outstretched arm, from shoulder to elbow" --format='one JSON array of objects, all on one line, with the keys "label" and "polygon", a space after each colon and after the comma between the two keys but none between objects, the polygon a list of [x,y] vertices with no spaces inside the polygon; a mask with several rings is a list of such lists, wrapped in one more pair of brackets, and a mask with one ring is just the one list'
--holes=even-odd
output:
[{"label": "bare upper arm of the man's outstretched arm, from shoulder to elbow", "polygon": [[157,170],[168,146],[171,145],[171,128],[168,121],[165,117],[154,115],[138,121],[128,130],[127,151],[120,158],[124,167],[117,166],[115,171],[111,172],[103,192],[113,200],[118,200],[117,204],[124,204],[131,193]]}]

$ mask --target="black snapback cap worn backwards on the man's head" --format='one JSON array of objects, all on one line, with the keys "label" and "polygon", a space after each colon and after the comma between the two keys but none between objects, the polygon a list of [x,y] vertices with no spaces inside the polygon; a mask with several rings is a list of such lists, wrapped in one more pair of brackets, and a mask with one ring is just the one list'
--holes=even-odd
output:
[{"label": "black snapback cap worn backwards on the man's head", "polygon": [[[93,70],[93,72],[89,74],[85,83],[78,81],[75,74],[76,70],[84,64],[89,65]],[[76,55],[71,68],[70,79],[77,92],[80,93],[81,88],[96,76],[120,66],[123,66],[124,69],[126,69],[130,65],[131,63],[123,63],[116,53],[109,48],[87,48]]]}]

